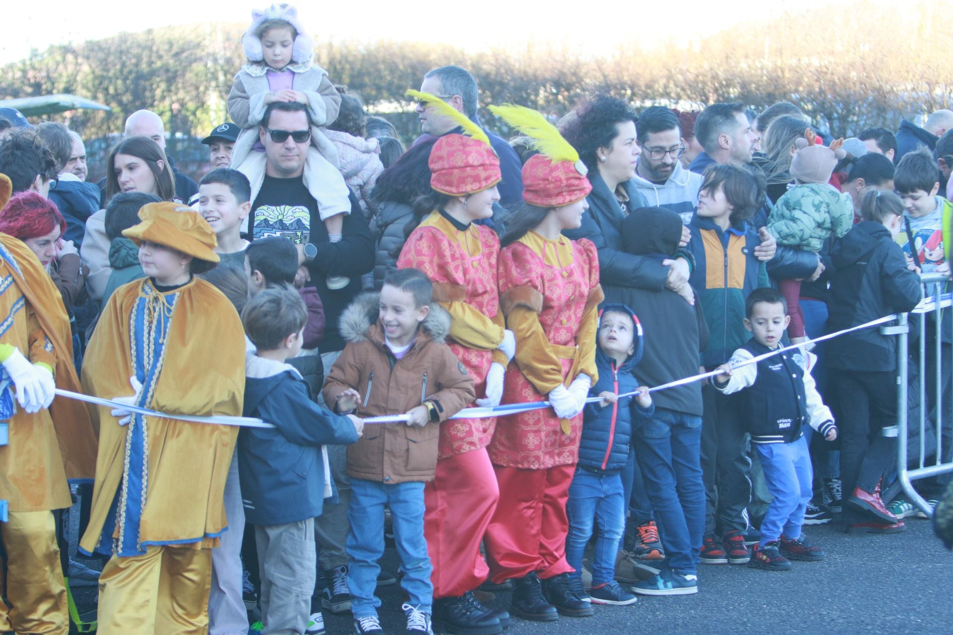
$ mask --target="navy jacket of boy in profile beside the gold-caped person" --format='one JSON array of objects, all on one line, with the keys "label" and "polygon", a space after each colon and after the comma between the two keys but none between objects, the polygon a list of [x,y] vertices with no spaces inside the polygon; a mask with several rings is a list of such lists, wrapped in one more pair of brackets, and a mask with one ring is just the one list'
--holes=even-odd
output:
[{"label": "navy jacket of boy in profile beside the gold-caped person", "polygon": [[[285,525],[321,515],[323,444],[353,444],[354,424],[318,406],[293,367],[249,354],[246,417],[276,428],[243,427],[238,434],[238,476],[245,518],[254,525]],[[329,475],[330,476],[330,475]]]}]

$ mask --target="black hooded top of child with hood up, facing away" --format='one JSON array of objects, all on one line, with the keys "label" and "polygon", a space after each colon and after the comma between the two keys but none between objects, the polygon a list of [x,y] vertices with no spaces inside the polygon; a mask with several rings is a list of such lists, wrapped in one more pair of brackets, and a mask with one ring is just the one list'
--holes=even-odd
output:
[{"label": "black hooded top of child with hood up, facing away", "polygon": [[[666,208],[641,208],[622,221],[622,246],[640,258],[661,262],[679,248],[681,218]],[[639,316],[643,331],[639,379],[653,387],[699,372],[699,353],[708,346],[708,325],[695,306],[668,288],[620,289],[620,302]],[[698,382],[660,390],[652,395],[656,407],[701,415]]]}]

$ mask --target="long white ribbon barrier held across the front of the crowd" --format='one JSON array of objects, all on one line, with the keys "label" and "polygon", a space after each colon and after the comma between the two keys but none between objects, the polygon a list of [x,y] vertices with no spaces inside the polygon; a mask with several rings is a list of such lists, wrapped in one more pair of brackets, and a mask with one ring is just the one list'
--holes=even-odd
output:
[{"label": "long white ribbon barrier held across the front of the crowd", "polygon": [[[939,298],[939,303],[935,296],[930,296],[925,298],[917,308],[914,308],[913,313],[926,313],[929,311],[937,310],[937,308],[945,308],[953,305],[953,293],[944,293]],[[827,335],[821,335],[821,337],[811,340],[812,343],[823,342],[825,340],[832,340],[836,337],[841,337],[846,333],[853,332],[855,330],[862,330],[863,328],[877,327],[879,325],[891,322],[897,319],[896,314],[886,315],[880,319],[872,320],[866,324],[858,325],[856,327],[844,328],[834,333],[828,333]],[[763,353],[758,357],[753,357],[749,360],[741,362],[736,368],[747,366],[749,364],[757,364],[763,359],[773,357],[775,355],[780,355],[782,352],[793,350],[795,348],[802,348],[805,345],[791,345],[789,347],[782,347],[772,350],[770,352]],[[698,375],[692,375],[691,377],[684,377],[682,379],[677,379],[674,382],[669,382],[668,384],[662,384],[661,386],[650,387],[649,392],[657,392],[659,390],[664,390],[666,388],[673,388],[677,386],[684,386],[685,384],[691,384],[692,382],[698,382],[702,379],[708,379],[719,374],[719,370],[710,370],[708,372],[703,372]],[[188,421],[194,424],[211,424],[214,426],[239,426],[239,427],[274,427],[273,424],[262,421],[261,419],[255,419],[253,417],[229,417],[229,416],[211,416],[211,417],[199,417],[194,415],[186,414],[166,414],[163,412],[157,412],[150,408],[130,406],[127,404],[120,404],[109,399],[102,399],[100,397],[91,397],[90,395],[84,395],[79,392],[71,392],[69,390],[56,389],[56,394],[61,397],[68,397],[70,399],[76,399],[82,402],[87,402],[89,404],[95,404],[97,406],[105,407],[117,407],[130,412],[135,412],[137,414],[146,415],[149,417],[161,417],[164,419],[179,419],[181,421]],[[635,395],[636,392],[626,392],[618,395],[619,397],[631,397]],[[587,404],[596,403],[601,401],[598,397],[589,397],[586,399]],[[510,414],[519,414],[520,412],[529,412],[530,410],[537,410],[544,407],[550,407],[549,402],[534,402],[532,404],[501,404],[497,407],[466,407],[457,412],[451,419],[486,419],[488,417],[501,417]],[[406,414],[395,414],[395,415],[386,415],[381,417],[367,417],[364,419],[365,424],[399,424],[406,422],[408,419]]]}]

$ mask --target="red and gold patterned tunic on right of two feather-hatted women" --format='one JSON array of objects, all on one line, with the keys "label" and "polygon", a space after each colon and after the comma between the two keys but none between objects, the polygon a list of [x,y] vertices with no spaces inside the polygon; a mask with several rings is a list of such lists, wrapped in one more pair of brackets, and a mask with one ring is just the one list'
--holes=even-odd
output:
[{"label": "red and gold patterned tunic on right of two feather-hatted women", "polygon": [[[585,239],[557,241],[530,231],[499,254],[499,291],[517,355],[506,371],[504,404],[545,401],[579,373],[598,378],[598,256]],[[563,432],[552,408],[497,420],[490,459],[497,466],[545,469],[578,461],[582,415]]]}]

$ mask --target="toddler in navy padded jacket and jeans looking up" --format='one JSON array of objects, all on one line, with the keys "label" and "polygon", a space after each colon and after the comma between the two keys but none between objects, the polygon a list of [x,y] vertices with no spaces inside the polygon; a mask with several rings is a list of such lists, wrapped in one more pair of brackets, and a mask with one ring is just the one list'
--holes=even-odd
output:
[{"label": "toddler in navy padded jacket and jeans looking up", "polygon": [[[639,386],[632,374],[642,356],[639,319],[625,305],[606,305],[599,316],[596,364],[598,382],[589,395],[600,397],[583,410],[579,461],[569,486],[569,533],[566,536],[566,561],[576,571],[570,580],[582,593],[582,552],[593,534],[594,520],[598,538],[593,556],[594,604],[631,605],[636,596],[614,580],[618,541],[625,528],[626,501],[621,471],[629,457],[632,429],[637,419],[652,417],[655,407],[648,388]],[[627,392],[638,394],[618,397]]]}]

